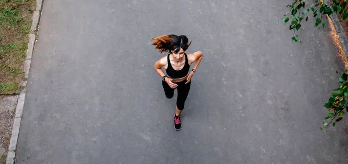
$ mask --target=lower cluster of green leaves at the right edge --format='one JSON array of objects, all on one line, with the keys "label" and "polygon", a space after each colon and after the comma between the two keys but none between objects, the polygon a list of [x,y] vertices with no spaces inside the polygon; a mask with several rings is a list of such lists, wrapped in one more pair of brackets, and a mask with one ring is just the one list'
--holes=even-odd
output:
[{"label": "lower cluster of green leaves at the right edge", "polygon": [[[344,110],[348,112],[348,74],[343,73],[339,78],[339,83],[342,85],[338,88],[334,89],[331,97],[329,98],[328,103],[324,105],[325,108],[329,109],[328,116],[325,117],[322,125],[324,128],[328,128],[332,123],[333,126],[336,126],[336,122],[342,120],[343,114],[345,114]],[[327,122],[329,121],[329,123]],[[320,127],[322,130],[322,127]]]}]

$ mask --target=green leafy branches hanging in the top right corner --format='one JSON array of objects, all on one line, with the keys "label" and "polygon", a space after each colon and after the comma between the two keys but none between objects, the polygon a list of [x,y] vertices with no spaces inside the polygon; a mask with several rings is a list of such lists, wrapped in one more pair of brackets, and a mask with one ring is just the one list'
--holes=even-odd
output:
[{"label": "green leafy branches hanging in the top right corner", "polygon": [[[348,5],[347,0],[332,0],[330,5],[327,5],[319,0],[314,0],[314,3],[308,5],[306,0],[293,0],[292,4],[287,5],[290,9],[289,12],[284,14],[282,21],[284,23],[290,23],[289,30],[292,30],[294,36],[291,38],[294,42],[301,43],[301,40],[296,35],[296,31],[301,28],[302,20],[308,21],[310,15],[315,18],[314,27],[325,27],[325,21],[322,20],[323,15],[331,15],[336,12],[340,21],[348,17]],[[280,22],[279,20],[278,22]]]}]

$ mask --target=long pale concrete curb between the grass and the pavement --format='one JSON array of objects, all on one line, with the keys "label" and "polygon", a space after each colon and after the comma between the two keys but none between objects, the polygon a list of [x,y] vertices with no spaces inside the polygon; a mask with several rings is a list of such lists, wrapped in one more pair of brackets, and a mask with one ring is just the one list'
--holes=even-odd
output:
[{"label": "long pale concrete curb between the grass and the pavement", "polygon": [[10,139],[10,145],[9,150],[7,153],[7,159],[6,164],[13,164],[15,162],[15,156],[16,156],[16,149],[17,149],[17,141],[18,141],[18,135],[19,135],[19,128],[20,128],[20,121],[23,113],[23,107],[24,107],[24,100],[26,98],[26,89],[27,86],[27,80],[29,77],[29,70],[30,70],[30,63],[31,58],[33,56],[33,50],[35,45],[35,37],[37,32],[37,27],[40,20],[41,10],[42,10],[42,3],[43,0],[36,0],[36,9],[33,13],[33,22],[31,24],[30,34],[29,34],[29,42],[28,42],[28,49],[26,51],[27,57],[23,62],[23,71],[24,71],[24,81],[21,83],[20,86],[20,92],[17,99],[17,106],[13,121],[13,127],[12,127],[12,135]]}]

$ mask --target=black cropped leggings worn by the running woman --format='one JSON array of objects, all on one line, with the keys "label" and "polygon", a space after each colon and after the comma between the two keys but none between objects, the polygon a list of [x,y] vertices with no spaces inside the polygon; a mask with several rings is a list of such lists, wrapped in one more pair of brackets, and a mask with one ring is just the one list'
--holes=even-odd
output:
[{"label": "black cropped leggings worn by the running woman", "polygon": [[[186,81],[187,80],[175,83],[175,84],[178,85],[178,87],[177,87],[178,88],[177,107],[181,111],[184,109],[185,101],[186,101],[188,92],[190,91],[190,87],[191,87],[191,81],[189,83],[185,84]],[[162,86],[163,86],[163,89],[164,89],[165,96],[167,98],[173,97],[175,89],[171,89],[168,86],[166,81],[162,81]]]}]

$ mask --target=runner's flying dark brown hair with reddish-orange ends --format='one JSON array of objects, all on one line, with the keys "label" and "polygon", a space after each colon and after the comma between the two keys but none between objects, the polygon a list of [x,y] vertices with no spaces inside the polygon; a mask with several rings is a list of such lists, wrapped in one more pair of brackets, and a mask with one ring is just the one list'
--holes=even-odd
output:
[{"label": "runner's flying dark brown hair with reddish-orange ends", "polygon": [[158,49],[160,53],[175,51],[179,52],[180,48],[184,51],[191,45],[191,42],[188,43],[188,38],[185,35],[162,35],[159,37],[152,38],[154,43],[152,45],[156,46],[155,49]]}]

